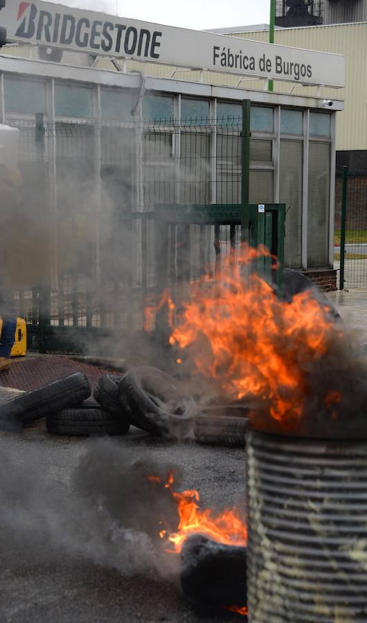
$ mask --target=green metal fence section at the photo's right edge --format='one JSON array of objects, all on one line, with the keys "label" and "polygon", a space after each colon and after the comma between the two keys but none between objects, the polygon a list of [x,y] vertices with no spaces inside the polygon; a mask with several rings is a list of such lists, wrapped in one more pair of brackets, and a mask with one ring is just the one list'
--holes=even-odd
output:
[{"label": "green metal fence section at the photo's right edge", "polygon": [[367,172],[343,167],[341,216],[336,222],[334,257],[339,288],[367,288]]}]

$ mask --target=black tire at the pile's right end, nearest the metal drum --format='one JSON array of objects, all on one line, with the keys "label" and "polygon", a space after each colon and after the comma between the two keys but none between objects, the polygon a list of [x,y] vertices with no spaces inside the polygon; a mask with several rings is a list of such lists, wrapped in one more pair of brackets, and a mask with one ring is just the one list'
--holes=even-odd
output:
[{"label": "black tire at the pile's right end, nearest the metal drum", "polygon": [[222,406],[203,409],[194,417],[194,435],[200,444],[241,448],[249,408]]}]

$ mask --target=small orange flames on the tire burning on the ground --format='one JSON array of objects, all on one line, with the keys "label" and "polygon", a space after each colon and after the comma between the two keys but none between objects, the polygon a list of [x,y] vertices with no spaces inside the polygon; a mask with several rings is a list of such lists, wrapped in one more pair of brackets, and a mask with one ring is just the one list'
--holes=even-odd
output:
[{"label": "small orange flames on the tire burning on the ground", "polygon": [[[158,476],[149,476],[149,480],[161,484],[161,478]],[[164,486],[170,490],[172,498],[177,503],[179,521],[176,532],[161,530],[159,533],[161,539],[168,542],[167,552],[178,554],[188,536],[198,533],[206,534],[208,538],[226,545],[247,544],[247,526],[241,520],[238,509],[224,510],[214,516],[211,509],[200,510],[198,491],[193,489],[179,493],[174,491],[173,484],[174,477],[170,473]]]}]

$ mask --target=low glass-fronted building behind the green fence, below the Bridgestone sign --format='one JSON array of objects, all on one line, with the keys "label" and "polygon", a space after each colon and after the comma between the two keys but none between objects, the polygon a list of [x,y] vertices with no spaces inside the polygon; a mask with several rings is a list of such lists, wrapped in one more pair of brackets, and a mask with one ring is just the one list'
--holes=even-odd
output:
[{"label": "low glass-fronted building behind the green fence, below the Bridgestone sign", "polygon": [[[26,10],[22,4],[19,19],[30,28]],[[251,102],[249,201],[286,204],[285,265],[334,288],[343,101],[333,97],[330,107],[322,93],[291,94],[289,83],[271,93],[259,84],[60,47],[4,48],[0,120],[19,128],[26,193],[19,220],[30,240],[16,284],[24,315],[34,323],[43,294],[35,303],[33,285],[46,283],[51,325],[141,329],[147,297],[160,288],[156,205],[240,204],[243,100]],[[217,263],[219,247],[223,255],[233,249],[236,235],[231,226],[177,226],[165,249],[170,278],[199,278]]]}]

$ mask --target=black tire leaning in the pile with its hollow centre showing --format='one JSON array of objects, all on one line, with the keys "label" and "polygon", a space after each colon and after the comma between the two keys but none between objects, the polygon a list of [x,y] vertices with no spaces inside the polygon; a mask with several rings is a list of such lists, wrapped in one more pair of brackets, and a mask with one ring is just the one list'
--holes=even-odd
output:
[{"label": "black tire leaning in the pile with its hollow centre showing", "polygon": [[182,438],[193,427],[195,401],[165,372],[141,365],[121,379],[120,399],[131,410],[130,422],[152,435]]}]

